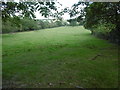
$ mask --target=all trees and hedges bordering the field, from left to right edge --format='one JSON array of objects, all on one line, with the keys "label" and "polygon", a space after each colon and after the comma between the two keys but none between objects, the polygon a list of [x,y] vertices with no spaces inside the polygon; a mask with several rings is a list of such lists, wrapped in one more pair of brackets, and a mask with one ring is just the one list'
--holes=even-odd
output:
[{"label": "all trees and hedges bordering the field, from left to right edge", "polygon": [[[58,2],[2,2],[3,33],[68,25],[63,21],[62,15],[69,13],[71,18],[75,17],[67,20],[71,26],[83,25],[91,30],[92,35],[120,42],[120,2],[78,2],[61,11],[58,11],[56,3]],[[35,11],[46,18],[54,17],[56,22],[35,20]]]}]

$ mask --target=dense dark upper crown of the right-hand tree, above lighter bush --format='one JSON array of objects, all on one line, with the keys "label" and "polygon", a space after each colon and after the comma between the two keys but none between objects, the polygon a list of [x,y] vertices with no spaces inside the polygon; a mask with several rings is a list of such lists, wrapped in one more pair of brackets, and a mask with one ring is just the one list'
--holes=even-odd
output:
[{"label": "dense dark upper crown of the right-hand tree, above lighter bush", "polygon": [[85,9],[86,27],[91,28],[100,22],[112,23],[118,26],[120,22],[120,3],[95,2]]}]

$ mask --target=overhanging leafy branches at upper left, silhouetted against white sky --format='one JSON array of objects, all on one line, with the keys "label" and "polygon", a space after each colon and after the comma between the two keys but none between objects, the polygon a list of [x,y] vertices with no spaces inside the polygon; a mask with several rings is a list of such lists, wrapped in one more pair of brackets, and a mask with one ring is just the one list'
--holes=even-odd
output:
[{"label": "overhanging leafy branches at upper left, silhouetted against white sky", "polygon": [[51,10],[57,10],[55,2],[2,2],[2,18],[16,16],[35,18],[35,11],[38,10],[42,16],[52,15]]}]

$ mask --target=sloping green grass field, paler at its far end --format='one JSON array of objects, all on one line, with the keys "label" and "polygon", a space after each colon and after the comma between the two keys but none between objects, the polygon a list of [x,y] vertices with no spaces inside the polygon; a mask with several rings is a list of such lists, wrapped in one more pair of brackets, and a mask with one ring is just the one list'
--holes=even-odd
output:
[{"label": "sloping green grass field, paler at its far end", "polygon": [[79,27],[3,35],[3,87],[118,87],[117,45]]}]

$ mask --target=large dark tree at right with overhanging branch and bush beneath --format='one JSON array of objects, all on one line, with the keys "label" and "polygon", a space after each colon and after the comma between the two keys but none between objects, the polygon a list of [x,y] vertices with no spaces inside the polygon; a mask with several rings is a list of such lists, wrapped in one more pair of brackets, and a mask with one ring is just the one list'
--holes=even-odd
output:
[{"label": "large dark tree at right with overhanging branch and bush beneath", "polygon": [[[86,7],[80,9],[80,5]],[[79,15],[78,21],[85,17],[84,27],[92,34],[104,35],[113,42],[120,42],[120,2],[78,2],[73,5],[70,16]]]}]

